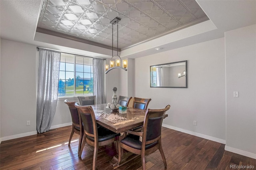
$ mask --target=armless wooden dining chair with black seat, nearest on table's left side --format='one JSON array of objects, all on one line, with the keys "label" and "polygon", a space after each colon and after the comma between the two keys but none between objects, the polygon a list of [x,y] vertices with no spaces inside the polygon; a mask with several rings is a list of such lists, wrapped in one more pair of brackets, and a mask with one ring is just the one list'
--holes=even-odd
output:
[{"label": "armless wooden dining chair with black seat, nearest on table's left side", "polygon": [[90,146],[94,146],[92,169],[95,170],[99,146],[111,144],[118,140],[120,133],[117,134],[111,130],[108,130],[107,128],[97,126],[94,111],[91,106],[80,106],[78,103],[75,103],[75,106],[78,109],[78,114],[80,114],[84,124],[84,137],[79,157],[81,158],[86,142]]}]

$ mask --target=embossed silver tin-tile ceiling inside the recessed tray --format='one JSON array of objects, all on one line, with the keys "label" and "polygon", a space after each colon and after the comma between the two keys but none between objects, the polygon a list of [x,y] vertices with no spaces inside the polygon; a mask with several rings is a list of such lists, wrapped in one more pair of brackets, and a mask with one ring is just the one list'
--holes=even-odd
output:
[{"label": "embossed silver tin-tile ceiling inside the recessed tray", "polygon": [[[208,17],[195,0],[44,0],[37,32],[82,38],[112,47],[118,23],[118,47],[125,49]],[[114,47],[117,46],[114,25]]]}]

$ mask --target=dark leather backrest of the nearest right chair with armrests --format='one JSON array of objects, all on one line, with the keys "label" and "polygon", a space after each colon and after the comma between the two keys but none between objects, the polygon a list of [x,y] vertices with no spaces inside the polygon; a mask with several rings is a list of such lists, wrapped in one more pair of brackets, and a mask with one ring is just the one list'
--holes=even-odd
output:
[{"label": "dark leather backrest of the nearest right chair with armrests", "polygon": [[164,115],[169,109],[170,105],[164,109],[147,109],[143,125],[145,141],[153,140],[161,135]]}]

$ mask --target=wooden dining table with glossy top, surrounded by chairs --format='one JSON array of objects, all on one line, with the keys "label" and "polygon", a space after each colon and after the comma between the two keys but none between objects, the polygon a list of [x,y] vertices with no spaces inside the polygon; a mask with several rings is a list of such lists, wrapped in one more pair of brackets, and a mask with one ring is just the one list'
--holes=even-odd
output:
[{"label": "wooden dining table with glossy top, surrounded by chairs", "polygon": [[[135,127],[143,125],[146,110],[137,109],[133,107],[127,107],[126,113],[119,113],[118,109],[110,109],[107,104],[91,105],[95,114],[96,122],[113,132],[120,133],[119,140],[124,136],[124,132],[131,130]],[[164,118],[168,115],[166,114]],[[125,164],[126,162],[136,158],[140,155],[134,155],[130,152],[126,152],[123,155],[121,163],[118,165],[118,155],[114,156],[110,161],[113,168]]]}]

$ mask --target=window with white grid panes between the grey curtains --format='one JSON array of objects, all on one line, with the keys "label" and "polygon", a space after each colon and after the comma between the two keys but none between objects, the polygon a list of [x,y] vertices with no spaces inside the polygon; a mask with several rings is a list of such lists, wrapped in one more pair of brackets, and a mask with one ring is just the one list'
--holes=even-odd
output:
[{"label": "window with white grid panes between the grey curtains", "polygon": [[61,53],[58,97],[93,95],[92,58]]}]

